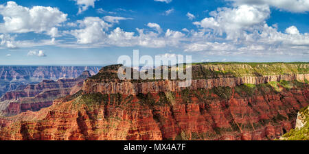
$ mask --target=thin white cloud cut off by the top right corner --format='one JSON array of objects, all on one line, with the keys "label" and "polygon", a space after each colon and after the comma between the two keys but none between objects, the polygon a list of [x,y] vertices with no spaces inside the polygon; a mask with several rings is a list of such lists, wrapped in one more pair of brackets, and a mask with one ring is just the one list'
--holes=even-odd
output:
[{"label": "thin white cloud cut off by the top right corner", "polygon": [[270,5],[280,10],[287,10],[289,12],[308,12],[308,0],[228,0],[235,1],[236,5]]}]

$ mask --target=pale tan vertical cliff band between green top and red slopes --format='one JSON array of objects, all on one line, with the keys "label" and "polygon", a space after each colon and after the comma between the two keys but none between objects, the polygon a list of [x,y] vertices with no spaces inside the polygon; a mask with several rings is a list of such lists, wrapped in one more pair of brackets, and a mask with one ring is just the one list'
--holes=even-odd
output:
[{"label": "pale tan vertical cliff band between green top and red slopes", "polygon": [[[262,77],[222,77],[216,79],[194,79],[188,87],[191,90],[198,88],[214,88],[214,87],[235,87],[241,84],[266,84],[271,81],[309,81],[309,74],[290,74],[290,75],[265,75]],[[84,93],[100,92],[102,94],[132,94],[139,93],[157,93],[157,92],[179,92],[185,88],[181,88],[179,80],[157,80],[151,82],[134,83],[131,81],[110,81],[98,82],[95,79],[87,79],[84,81],[82,90]]]}]

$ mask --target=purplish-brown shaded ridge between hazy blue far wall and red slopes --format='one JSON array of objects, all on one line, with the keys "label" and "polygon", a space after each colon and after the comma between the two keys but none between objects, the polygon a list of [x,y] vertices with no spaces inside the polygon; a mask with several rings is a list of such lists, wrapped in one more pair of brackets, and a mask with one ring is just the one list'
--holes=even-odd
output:
[{"label": "purplish-brown shaded ridge between hazy blue far wall and red slopes", "polygon": [[[13,116],[27,110],[35,112],[49,107],[54,99],[67,96],[71,93],[71,88],[80,85],[87,77],[91,77],[91,74],[84,71],[75,79],[44,80],[39,84],[28,84],[6,92],[0,101],[0,115]],[[75,87],[74,90],[80,88]]]}]

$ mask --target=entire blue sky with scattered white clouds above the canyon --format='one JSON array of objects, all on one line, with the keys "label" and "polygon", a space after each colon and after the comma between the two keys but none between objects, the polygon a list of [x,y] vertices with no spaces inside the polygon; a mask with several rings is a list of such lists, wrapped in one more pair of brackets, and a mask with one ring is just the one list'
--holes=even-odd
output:
[{"label": "entire blue sky with scattered white clouds above the canyon", "polygon": [[120,55],[308,62],[309,1],[0,2],[0,65],[106,65]]}]

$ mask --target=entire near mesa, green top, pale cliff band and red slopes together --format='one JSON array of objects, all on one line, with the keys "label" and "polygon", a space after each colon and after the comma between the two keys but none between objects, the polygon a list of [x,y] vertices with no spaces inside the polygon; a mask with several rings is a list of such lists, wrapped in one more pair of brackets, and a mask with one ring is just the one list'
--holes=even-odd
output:
[{"label": "entire near mesa, green top, pale cliff band and red slopes together", "polygon": [[273,140],[309,105],[308,66],[193,64],[188,88],[106,66],[52,106],[6,118],[0,140]]}]

